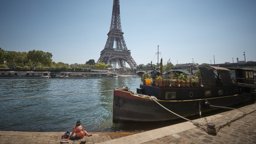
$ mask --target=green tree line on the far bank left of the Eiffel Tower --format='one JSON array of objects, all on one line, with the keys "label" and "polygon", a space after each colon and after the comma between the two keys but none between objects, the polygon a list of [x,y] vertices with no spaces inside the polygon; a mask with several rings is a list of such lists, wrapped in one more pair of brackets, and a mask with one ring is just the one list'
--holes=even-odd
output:
[{"label": "green tree line on the far bank left of the Eiffel Tower", "polygon": [[55,63],[52,61],[52,53],[41,50],[31,50],[29,52],[5,51],[0,48],[0,68],[11,68],[20,70],[79,70],[84,71],[91,68],[111,68],[111,64],[95,63],[95,60],[88,60],[85,64]]}]

